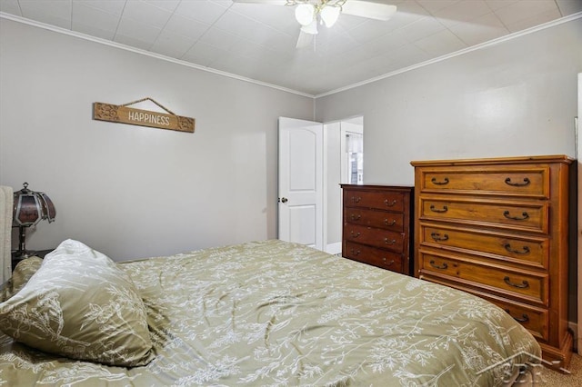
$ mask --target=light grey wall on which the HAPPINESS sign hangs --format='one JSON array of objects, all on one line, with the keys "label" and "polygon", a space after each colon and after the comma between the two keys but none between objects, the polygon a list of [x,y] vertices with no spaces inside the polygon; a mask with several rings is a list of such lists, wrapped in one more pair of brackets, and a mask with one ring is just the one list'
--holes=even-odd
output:
[{"label": "light grey wall on which the HAPPINESS sign hangs", "polygon": [[[56,206],[27,247],[75,238],[115,260],[275,238],[277,117],[313,119],[312,98],[6,19],[0,86],[0,184]],[[146,96],[196,133],[92,120]]]}]

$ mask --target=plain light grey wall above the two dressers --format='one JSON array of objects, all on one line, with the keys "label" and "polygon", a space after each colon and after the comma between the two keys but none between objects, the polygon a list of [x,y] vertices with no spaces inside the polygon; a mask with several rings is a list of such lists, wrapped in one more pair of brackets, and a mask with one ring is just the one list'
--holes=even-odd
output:
[{"label": "plain light grey wall above the two dressers", "polygon": [[363,115],[364,183],[414,184],[411,160],[574,155],[582,19],[316,99]]}]

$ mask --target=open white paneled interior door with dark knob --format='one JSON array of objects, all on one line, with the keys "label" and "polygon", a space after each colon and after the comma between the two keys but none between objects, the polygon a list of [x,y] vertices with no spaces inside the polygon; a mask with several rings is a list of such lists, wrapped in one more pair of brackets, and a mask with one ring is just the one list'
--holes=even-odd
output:
[{"label": "open white paneled interior door with dark knob", "polygon": [[279,239],[324,250],[323,124],[279,118]]}]

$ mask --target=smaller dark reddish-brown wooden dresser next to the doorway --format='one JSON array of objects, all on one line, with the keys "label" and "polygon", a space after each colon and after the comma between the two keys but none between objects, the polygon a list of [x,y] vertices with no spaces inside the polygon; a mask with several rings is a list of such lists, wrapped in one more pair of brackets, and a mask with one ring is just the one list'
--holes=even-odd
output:
[{"label": "smaller dark reddish-brown wooden dresser next to the doorway", "polygon": [[342,255],[396,273],[411,274],[413,187],[341,184]]}]

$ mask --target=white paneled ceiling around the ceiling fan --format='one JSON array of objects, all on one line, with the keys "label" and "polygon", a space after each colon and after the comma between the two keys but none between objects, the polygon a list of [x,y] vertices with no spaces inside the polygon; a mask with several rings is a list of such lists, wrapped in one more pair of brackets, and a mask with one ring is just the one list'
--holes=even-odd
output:
[{"label": "white paneled ceiling around the ceiling fan", "polygon": [[0,12],[310,95],[582,12],[582,0],[375,1],[396,5],[396,15],[387,22],[341,15],[332,28],[319,28],[315,45],[301,49],[294,9],[282,5],[0,0]]}]

